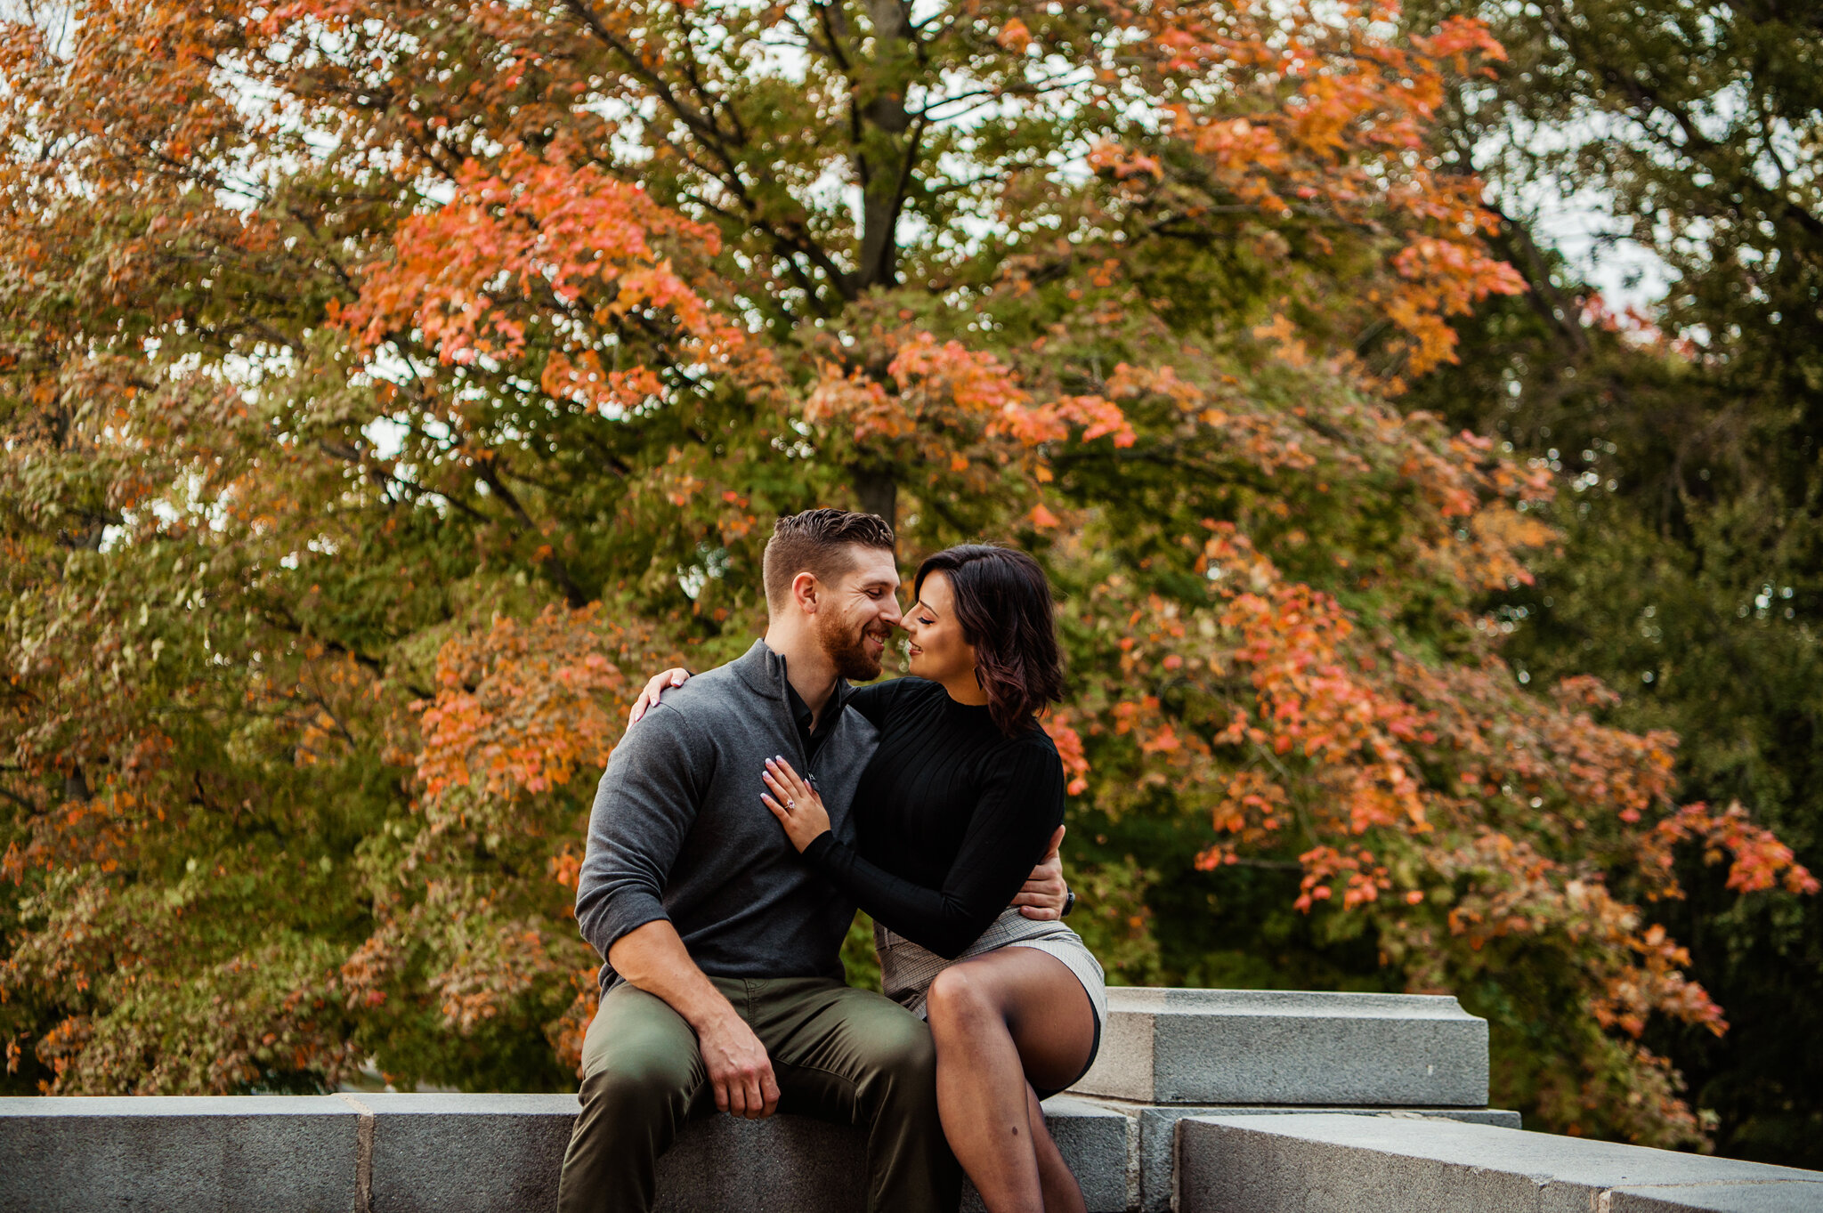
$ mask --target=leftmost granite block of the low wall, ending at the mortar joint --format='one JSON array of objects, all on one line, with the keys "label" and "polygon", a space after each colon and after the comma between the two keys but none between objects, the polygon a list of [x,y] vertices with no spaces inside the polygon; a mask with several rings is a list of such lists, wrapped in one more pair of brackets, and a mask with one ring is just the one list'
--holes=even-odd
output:
[{"label": "leftmost granite block of the low wall, ending at the mortar joint", "polygon": [[334,1096],[0,1098],[0,1211],[348,1213]]}]

